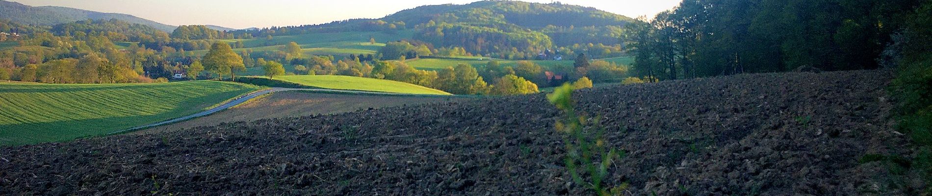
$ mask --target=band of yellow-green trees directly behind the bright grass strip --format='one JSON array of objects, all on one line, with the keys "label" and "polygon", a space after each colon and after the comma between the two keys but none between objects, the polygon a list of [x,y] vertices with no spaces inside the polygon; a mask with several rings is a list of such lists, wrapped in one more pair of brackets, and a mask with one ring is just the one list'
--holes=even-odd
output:
[{"label": "band of yellow-green trees directly behind the bright grass strip", "polygon": [[[420,45],[424,46],[424,45]],[[382,52],[401,55],[416,50],[407,42],[392,42],[382,48]],[[583,86],[592,86],[592,81],[620,81],[627,75],[627,68],[603,60],[591,61],[581,54],[577,65],[551,66],[544,68],[533,61],[521,60],[512,66],[503,66],[499,61],[489,60],[487,64],[472,66],[459,64],[439,71],[423,71],[407,65],[404,60],[379,60],[372,55],[351,55],[346,59],[333,56],[299,56],[300,46],[291,43],[280,48],[281,53],[295,53],[289,66],[293,72],[285,72],[284,64],[275,60],[256,59],[257,66],[265,66],[268,77],[281,74],[309,75],[349,75],[370,77],[423,85],[461,95],[515,95],[538,92],[541,86],[555,86],[581,80]],[[291,52],[289,52],[291,51]],[[429,51],[425,51],[429,52]],[[414,52],[417,54],[418,52]],[[394,55],[383,55],[394,56]],[[545,72],[559,74],[563,79],[549,80]],[[584,78],[584,79],[583,79]]]}]

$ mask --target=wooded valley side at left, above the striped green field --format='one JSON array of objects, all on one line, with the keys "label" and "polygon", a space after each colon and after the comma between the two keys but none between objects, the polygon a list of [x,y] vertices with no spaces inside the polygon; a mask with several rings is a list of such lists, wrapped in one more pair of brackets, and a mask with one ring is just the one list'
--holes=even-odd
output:
[{"label": "wooded valley side at left, above the striped green field", "polygon": [[54,26],[0,21],[0,31],[10,34],[0,34],[0,41],[16,41],[0,50],[0,80],[25,82],[166,81],[172,72],[184,70],[183,64],[199,58],[185,52],[185,46],[193,50],[212,44],[172,39],[169,33],[122,20],[77,20]]}]

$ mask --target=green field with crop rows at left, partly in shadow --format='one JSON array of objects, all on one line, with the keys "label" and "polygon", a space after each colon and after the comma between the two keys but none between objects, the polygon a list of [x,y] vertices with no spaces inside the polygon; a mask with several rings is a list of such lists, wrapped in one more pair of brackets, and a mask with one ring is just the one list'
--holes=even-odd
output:
[{"label": "green field with crop rows at left, partly in shadow", "polygon": [[0,146],[105,135],[203,111],[259,88],[215,81],[117,85],[0,82]]}]

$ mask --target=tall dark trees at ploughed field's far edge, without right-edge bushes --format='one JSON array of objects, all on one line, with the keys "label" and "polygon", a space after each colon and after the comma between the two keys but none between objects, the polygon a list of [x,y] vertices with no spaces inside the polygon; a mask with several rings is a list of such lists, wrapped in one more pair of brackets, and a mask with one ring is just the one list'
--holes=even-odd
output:
[{"label": "tall dark trees at ploughed field's far edge, without right-edge bushes", "polygon": [[878,68],[891,35],[920,1],[685,0],[624,26],[638,75]]}]

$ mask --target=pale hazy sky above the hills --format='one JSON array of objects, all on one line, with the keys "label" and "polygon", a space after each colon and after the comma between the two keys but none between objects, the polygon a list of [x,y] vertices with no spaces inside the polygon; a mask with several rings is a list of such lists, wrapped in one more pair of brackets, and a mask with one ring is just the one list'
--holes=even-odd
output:
[{"label": "pale hazy sky above the hills", "polygon": [[[212,24],[228,28],[320,24],[334,20],[377,19],[424,5],[469,4],[478,0],[12,0],[24,5],[75,7],[130,14],[170,25]],[[550,0],[527,0],[550,3]],[[681,0],[563,0],[631,18],[652,17]]]}]

